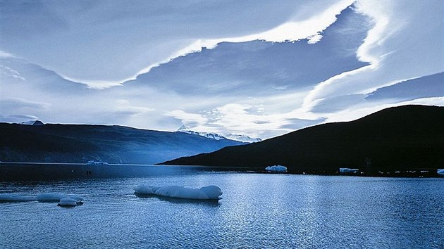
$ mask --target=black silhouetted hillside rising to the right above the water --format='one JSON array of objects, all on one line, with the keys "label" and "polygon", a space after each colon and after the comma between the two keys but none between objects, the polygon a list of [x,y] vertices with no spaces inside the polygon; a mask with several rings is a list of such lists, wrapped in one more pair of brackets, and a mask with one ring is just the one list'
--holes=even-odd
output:
[{"label": "black silhouetted hillside rising to the right above the water", "polygon": [[352,122],[336,122],[213,153],[178,158],[166,165],[266,167],[289,172],[365,172],[444,168],[444,107],[400,106]]}]

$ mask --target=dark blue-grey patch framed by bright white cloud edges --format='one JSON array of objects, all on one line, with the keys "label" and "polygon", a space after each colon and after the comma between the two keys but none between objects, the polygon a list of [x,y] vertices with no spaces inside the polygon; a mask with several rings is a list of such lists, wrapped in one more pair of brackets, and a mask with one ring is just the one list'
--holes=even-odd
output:
[{"label": "dark blue-grey patch framed by bright white cloud edges", "polygon": [[[369,23],[347,8],[316,44],[306,41],[223,42],[159,65],[125,87],[156,87],[180,95],[270,96],[305,91],[344,71],[361,68],[355,51]],[[350,53],[350,51],[352,51]]]}]

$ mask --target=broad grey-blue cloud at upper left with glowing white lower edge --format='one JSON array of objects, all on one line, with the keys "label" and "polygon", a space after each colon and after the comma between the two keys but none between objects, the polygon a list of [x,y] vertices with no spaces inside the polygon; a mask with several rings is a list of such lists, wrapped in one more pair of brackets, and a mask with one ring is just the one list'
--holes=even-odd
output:
[{"label": "broad grey-blue cloud at upper left with glowing white lower edge", "polygon": [[0,10],[0,49],[74,82],[109,87],[222,41],[316,37],[350,4],[352,1],[6,1]]}]

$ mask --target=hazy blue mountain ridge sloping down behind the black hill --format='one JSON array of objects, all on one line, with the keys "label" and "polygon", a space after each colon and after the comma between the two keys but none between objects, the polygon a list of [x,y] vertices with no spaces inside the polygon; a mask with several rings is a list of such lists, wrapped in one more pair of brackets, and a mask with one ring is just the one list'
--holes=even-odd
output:
[{"label": "hazy blue mountain ridge sloping down behind the black hill", "polygon": [[242,144],[180,132],[105,125],[0,123],[0,161],[152,164]]}]

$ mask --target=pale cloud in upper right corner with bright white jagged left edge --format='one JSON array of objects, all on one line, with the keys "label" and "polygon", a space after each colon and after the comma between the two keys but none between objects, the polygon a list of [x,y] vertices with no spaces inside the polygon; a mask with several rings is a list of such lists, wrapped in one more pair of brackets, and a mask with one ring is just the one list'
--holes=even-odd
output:
[{"label": "pale cloud in upper right corner with bright white jagged left edge", "polygon": [[374,22],[357,50],[359,60],[371,64],[319,83],[304,99],[307,110],[325,98],[368,94],[444,70],[442,1],[358,1],[356,6]]}]

